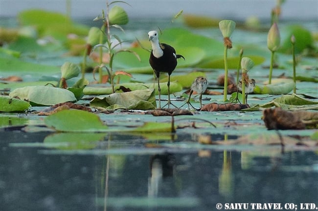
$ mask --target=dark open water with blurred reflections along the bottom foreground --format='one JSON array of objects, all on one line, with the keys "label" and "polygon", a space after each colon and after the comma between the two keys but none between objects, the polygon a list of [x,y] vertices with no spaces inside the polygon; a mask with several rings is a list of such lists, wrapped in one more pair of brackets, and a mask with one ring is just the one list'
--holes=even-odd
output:
[{"label": "dark open water with blurred reflections along the bottom foreground", "polygon": [[[318,205],[317,152],[94,155],[10,145],[46,135],[1,131],[1,211],[211,211],[217,203],[280,203],[283,208],[294,203],[299,210],[300,203]],[[107,141],[99,148],[106,149]]]}]

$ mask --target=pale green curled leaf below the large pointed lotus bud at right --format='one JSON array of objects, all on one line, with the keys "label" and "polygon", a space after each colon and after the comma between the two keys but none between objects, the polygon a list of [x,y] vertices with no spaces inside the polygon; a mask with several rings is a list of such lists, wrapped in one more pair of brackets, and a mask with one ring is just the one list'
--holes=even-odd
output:
[{"label": "pale green curled leaf below the large pointed lotus bud at right", "polygon": [[272,80],[272,84],[268,85],[255,85],[255,94],[271,94],[281,95],[291,92],[295,87],[295,83],[292,79],[278,78]]}]

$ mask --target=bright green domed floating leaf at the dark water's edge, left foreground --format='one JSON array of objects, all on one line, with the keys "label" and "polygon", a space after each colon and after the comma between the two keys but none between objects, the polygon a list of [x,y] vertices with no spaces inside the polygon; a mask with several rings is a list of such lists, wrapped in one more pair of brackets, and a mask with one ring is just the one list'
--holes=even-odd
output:
[{"label": "bright green domed floating leaf at the dark water's edge, left foreground", "polygon": [[105,132],[107,126],[91,112],[62,110],[44,119],[47,127],[62,132]]}]

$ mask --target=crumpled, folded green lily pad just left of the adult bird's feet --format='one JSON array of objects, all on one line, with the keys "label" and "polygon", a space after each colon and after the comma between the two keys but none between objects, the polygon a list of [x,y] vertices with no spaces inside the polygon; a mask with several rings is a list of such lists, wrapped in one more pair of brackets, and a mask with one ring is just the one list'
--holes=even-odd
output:
[{"label": "crumpled, folded green lily pad just left of the adult bird's feet", "polygon": [[90,106],[106,109],[155,109],[156,96],[154,89],[135,90],[125,93],[114,93],[107,96],[97,96],[91,100]]}]

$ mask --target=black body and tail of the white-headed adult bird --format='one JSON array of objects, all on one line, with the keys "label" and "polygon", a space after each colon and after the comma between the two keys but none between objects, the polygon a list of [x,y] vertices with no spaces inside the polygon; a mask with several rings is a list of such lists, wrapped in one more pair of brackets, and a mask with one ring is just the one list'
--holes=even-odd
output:
[{"label": "black body and tail of the white-headed adult bird", "polygon": [[151,51],[149,58],[150,66],[154,69],[158,78],[160,72],[168,73],[170,76],[177,66],[177,58],[182,57],[182,55],[176,55],[176,50],[170,45],[160,43],[160,48],[163,51],[162,57],[156,58]]}]

